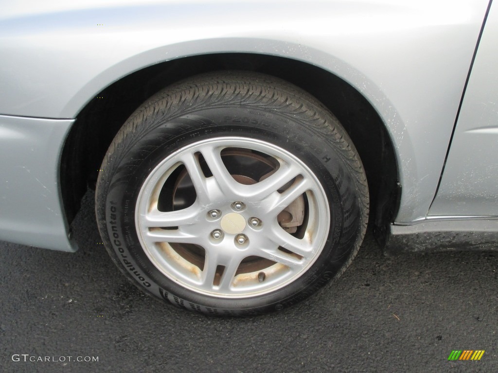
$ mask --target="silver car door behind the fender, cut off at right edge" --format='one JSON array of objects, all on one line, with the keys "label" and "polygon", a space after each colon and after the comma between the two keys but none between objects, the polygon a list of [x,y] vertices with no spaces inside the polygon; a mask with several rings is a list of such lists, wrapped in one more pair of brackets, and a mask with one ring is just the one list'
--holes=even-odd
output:
[{"label": "silver car door behind the fender, cut off at right edge", "polygon": [[490,9],[429,215],[498,215],[498,7]]}]

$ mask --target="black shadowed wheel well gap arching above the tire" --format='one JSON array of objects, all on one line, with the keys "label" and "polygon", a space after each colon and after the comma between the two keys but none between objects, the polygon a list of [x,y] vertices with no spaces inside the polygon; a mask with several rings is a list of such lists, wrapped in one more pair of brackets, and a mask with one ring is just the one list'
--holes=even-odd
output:
[{"label": "black shadowed wheel well gap arching above the tire", "polygon": [[370,222],[381,238],[397,211],[399,184],[393,146],[375,109],[347,82],[323,69],[257,54],[212,54],[156,64],[125,76],[90,100],[77,115],[62,153],[61,189],[69,222],[87,186],[95,186],[104,155],[129,115],[169,84],[216,70],[248,70],[284,79],[313,94],[337,116],[364,164]]}]

